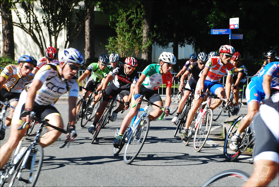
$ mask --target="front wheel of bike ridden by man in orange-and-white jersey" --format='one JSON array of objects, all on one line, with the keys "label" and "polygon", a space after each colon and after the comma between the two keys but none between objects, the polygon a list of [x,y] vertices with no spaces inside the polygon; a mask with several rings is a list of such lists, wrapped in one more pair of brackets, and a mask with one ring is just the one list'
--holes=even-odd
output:
[{"label": "front wheel of bike ridden by man in orange-and-white jersey", "polygon": [[195,132],[193,144],[194,151],[199,152],[201,148],[203,148],[211,129],[212,119],[213,112],[211,109],[207,109],[204,118],[201,118],[201,121],[199,121],[199,125]]}]

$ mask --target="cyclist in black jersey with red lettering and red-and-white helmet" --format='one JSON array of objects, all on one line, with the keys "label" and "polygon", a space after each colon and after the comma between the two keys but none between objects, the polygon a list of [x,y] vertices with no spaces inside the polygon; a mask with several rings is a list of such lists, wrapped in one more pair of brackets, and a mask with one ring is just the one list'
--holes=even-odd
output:
[{"label": "cyclist in black jersey with red lettering and red-and-white helmet", "polygon": [[[101,118],[105,107],[110,101],[109,96],[116,97],[119,94],[120,98],[125,102],[125,109],[127,110],[133,95],[133,90],[139,79],[138,73],[135,70],[137,67],[137,60],[134,57],[127,57],[125,64],[117,64],[105,78],[102,90],[99,92],[99,96],[103,96],[103,101],[100,107],[97,109],[96,116],[93,124],[88,128],[88,132],[92,133]],[[112,82],[111,82],[112,80]],[[108,83],[110,85],[108,86]],[[107,87],[108,86],[108,87]],[[120,104],[119,107],[112,112],[110,121],[115,121],[118,112],[123,110],[124,105]]]}]

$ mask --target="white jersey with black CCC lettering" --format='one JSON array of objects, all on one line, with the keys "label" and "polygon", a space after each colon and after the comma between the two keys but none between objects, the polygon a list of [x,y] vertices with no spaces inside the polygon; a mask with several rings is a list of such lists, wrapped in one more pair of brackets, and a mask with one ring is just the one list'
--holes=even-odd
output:
[{"label": "white jersey with black CCC lettering", "polygon": [[[35,102],[39,105],[51,105],[67,91],[69,91],[69,96],[78,97],[79,87],[76,76],[71,80],[62,80],[58,68],[59,65],[49,63],[42,66],[36,73],[34,80],[38,79],[43,83],[35,97]],[[32,82],[25,87],[25,90],[27,91],[31,86]]]}]

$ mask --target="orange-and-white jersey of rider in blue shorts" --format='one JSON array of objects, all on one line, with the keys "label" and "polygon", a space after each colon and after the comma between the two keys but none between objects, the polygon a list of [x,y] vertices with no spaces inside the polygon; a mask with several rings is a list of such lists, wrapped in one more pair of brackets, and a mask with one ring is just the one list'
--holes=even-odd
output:
[{"label": "orange-and-white jersey of rider in blue shorts", "polygon": [[222,64],[220,57],[211,57],[205,64],[205,67],[210,68],[207,77],[205,80],[210,82],[217,82],[224,75],[233,75],[235,67],[232,63],[228,63],[227,65]]}]

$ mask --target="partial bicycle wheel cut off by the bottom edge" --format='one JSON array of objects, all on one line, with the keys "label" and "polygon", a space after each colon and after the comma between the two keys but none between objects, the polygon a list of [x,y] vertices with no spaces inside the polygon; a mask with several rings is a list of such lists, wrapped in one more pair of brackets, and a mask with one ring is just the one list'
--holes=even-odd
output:
[{"label": "partial bicycle wheel cut off by the bottom edge", "polygon": [[205,182],[202,187],[205,186],[243,186],[244,182],[249,179],[249,175],[240,170],[226,170],[222,171],[212,178],[210,178],[207,182]]}]

